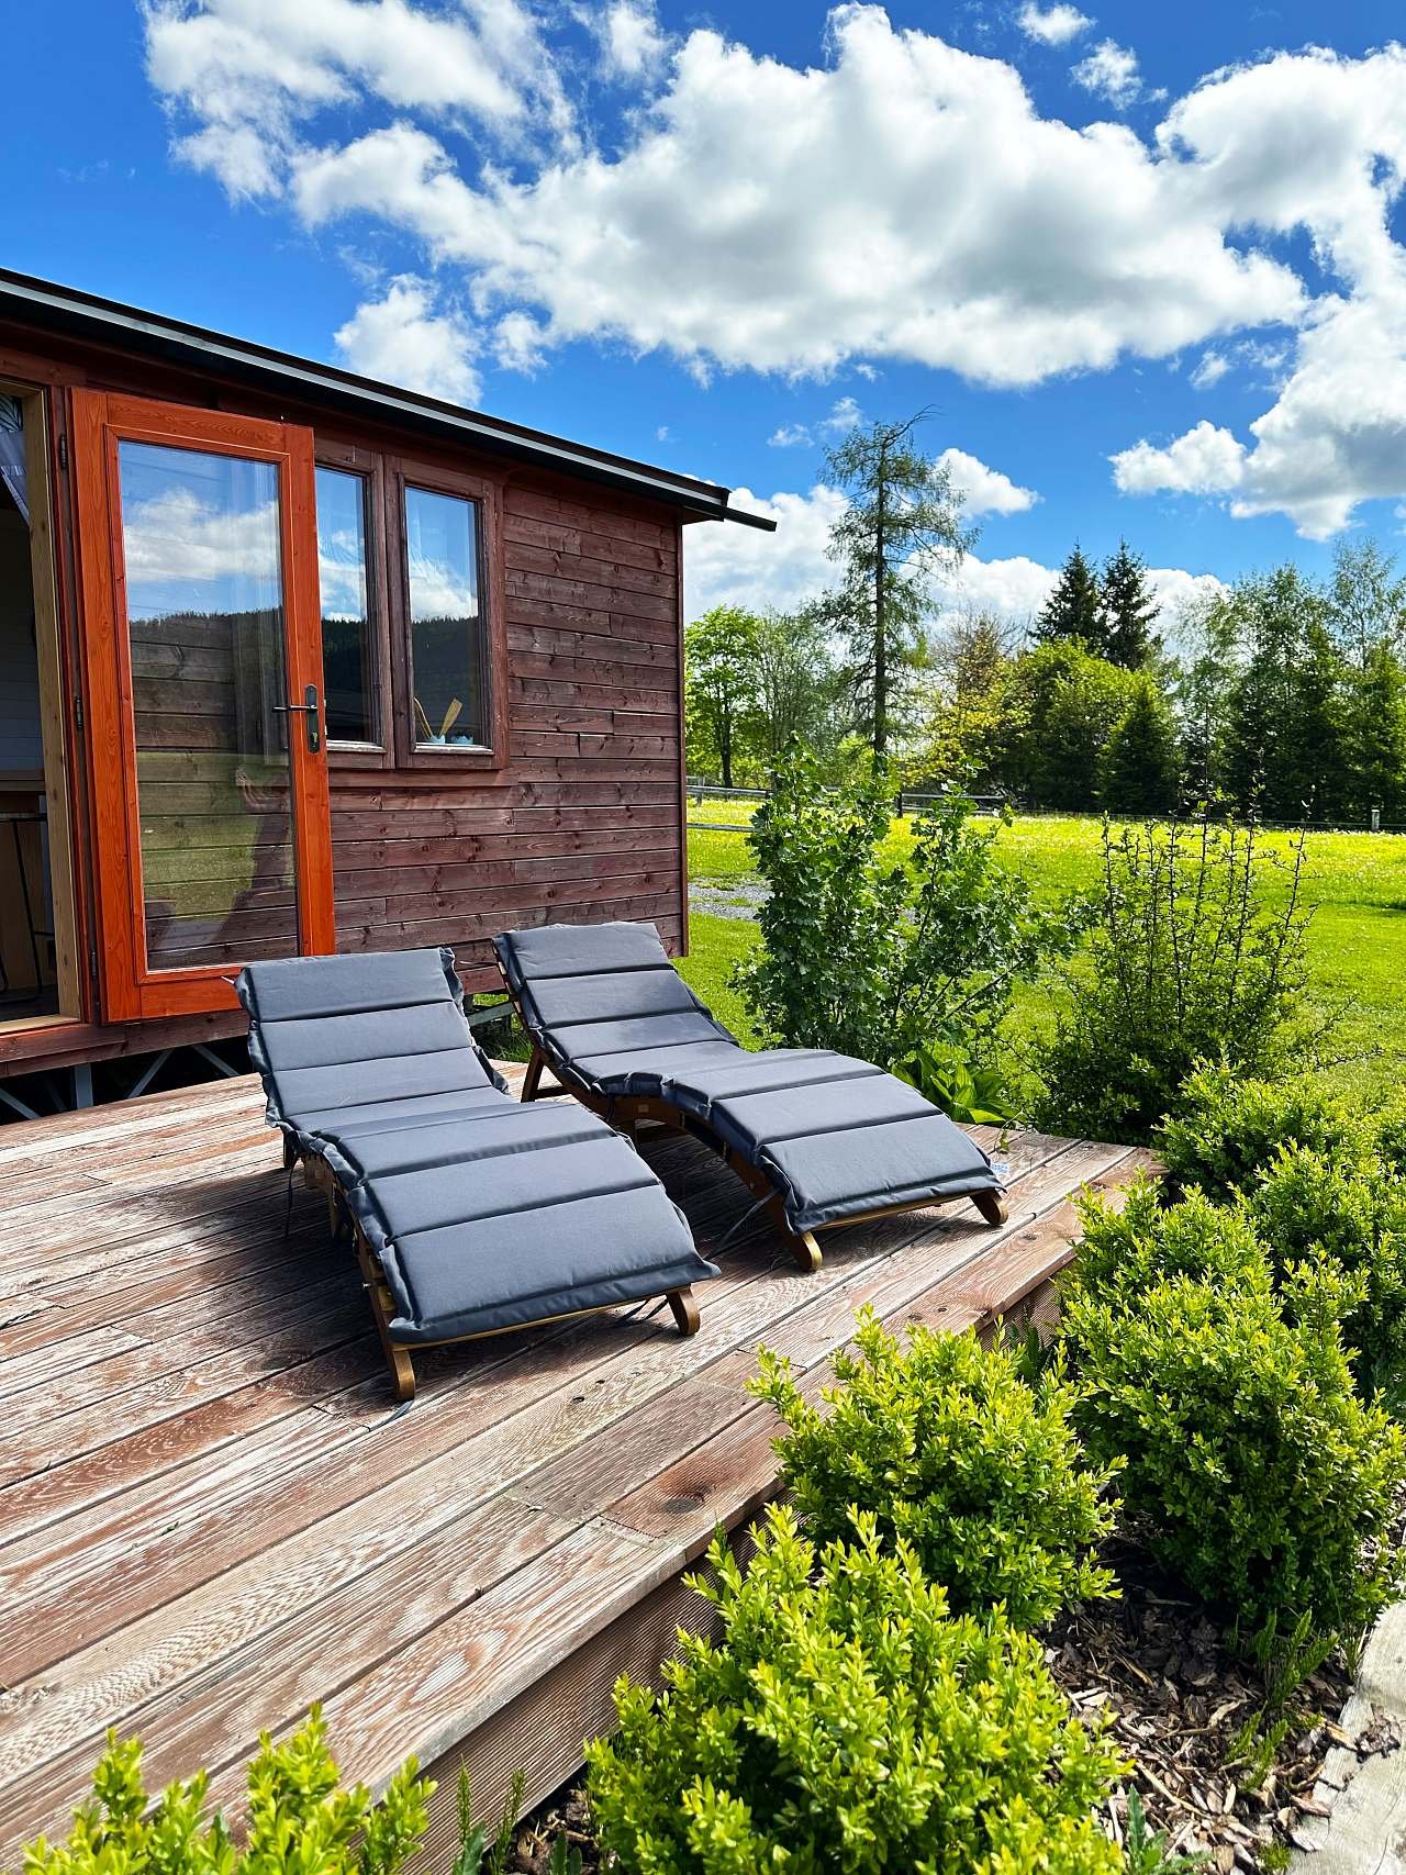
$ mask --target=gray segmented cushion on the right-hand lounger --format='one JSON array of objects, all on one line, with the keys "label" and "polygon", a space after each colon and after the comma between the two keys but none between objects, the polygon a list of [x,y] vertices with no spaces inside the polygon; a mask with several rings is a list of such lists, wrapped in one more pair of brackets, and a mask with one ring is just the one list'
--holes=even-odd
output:
[{"label": "gray segmented cushion on the right-hand lounger", "polygon": [[999,1191],[990,1159],[872,1061],[750,1052],[699,1003],[652,924],[546,924],[495,939],[559,1080],[675,1106],[767,1172],[793,1230]]}]

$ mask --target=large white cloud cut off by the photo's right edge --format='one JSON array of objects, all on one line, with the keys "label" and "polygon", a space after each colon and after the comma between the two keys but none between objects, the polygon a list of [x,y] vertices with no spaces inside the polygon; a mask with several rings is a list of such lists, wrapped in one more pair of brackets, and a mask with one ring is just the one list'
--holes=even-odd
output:
[{"label": "large white cloud cut off by the photo's right edge", "polygon": [[1282,52],[1172,109],[1159,141],[1194,161],[1207,208],[1226,225],[1309,229],[1340,285],[1310,306],[1292,356],[1237,347],[1277,390],[1250,442],[1198,424],[1170,448],[1119,452],[1119,488],[1220,495],[1235,516],[1282,512],[1316,540],[1359,502],[1406,493],[1406,249],[1391,236],[1404,92],[1399,45],[1361,60]]}]

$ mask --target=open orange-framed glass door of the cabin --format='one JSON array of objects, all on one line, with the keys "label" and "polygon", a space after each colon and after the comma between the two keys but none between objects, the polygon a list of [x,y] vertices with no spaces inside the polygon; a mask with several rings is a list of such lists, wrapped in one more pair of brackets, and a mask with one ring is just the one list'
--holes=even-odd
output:
[{"label": "open orange-framed glass door of the cabin", "polygon": [[332,951],[313,437],[73,394],[107,1020]]}]

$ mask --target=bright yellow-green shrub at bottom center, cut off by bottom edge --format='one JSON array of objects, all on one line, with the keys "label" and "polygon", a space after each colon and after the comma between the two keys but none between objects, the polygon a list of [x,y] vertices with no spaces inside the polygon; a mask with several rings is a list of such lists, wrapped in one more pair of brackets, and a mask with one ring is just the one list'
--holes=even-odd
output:
[{"label": "bright yellow-green shrub at bottom center, cut off by bottom edge", "polygon": [[950,1620],[907,1543],[860,1517],[821,1554],[772,1508],[746,1575],[709,1552],[720,1639],[681,1637],[666,1691],[621,1680],[587,1751],[626,1875],[1102,1875],[1093,1808],[1125,1766],[1070,1718],[1040,1644]]}]

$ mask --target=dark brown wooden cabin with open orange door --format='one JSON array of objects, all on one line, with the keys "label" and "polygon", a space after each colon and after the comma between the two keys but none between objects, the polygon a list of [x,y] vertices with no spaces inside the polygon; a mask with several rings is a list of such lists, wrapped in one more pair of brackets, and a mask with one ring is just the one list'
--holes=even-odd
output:
[{"label": "dark brown wooden cabin with open orange door", "polygon": [[729,491],[0,272],[0,1078],[249,958],[686,945],[682,531]]}]

